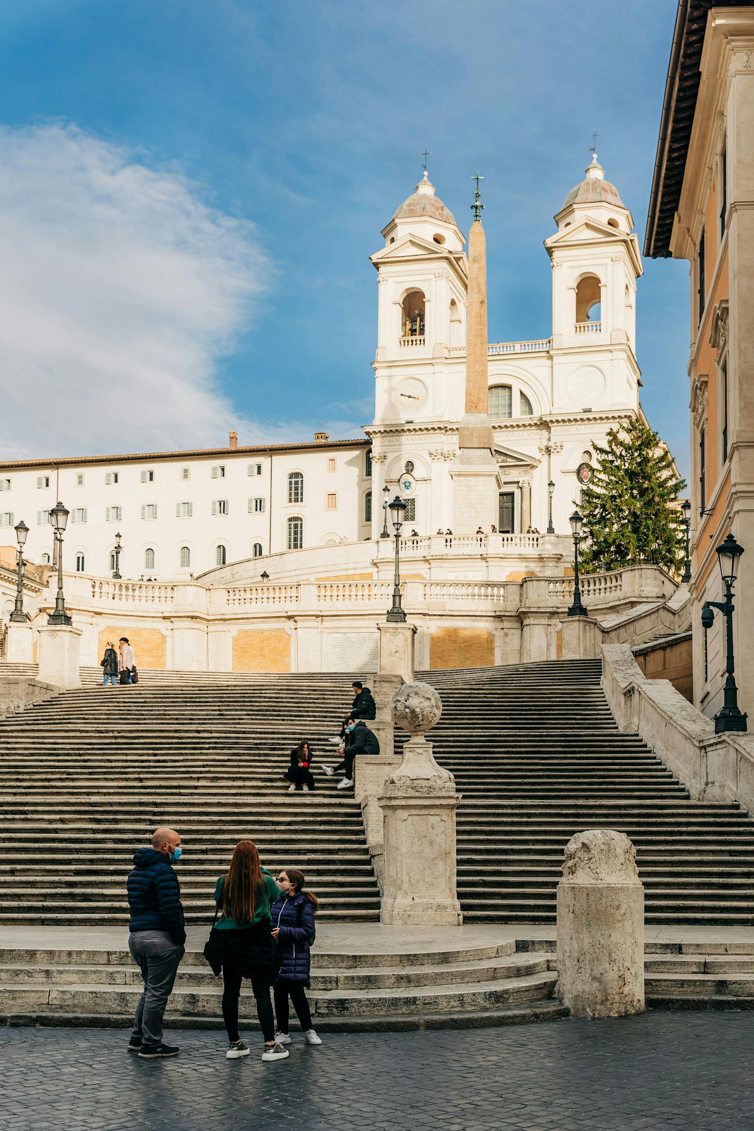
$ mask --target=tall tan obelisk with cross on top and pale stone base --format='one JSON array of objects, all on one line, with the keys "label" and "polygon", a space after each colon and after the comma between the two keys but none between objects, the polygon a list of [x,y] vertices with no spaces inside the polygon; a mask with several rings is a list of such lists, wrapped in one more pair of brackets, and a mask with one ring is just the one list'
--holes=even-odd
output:
[{"label": "tall tan obelisk with cross on top and pale stone base", "polygon": [[466,395],[458,425],[458,456],[451,465],[453,533],[485,533],[497,524],[499,473],[495,440],[487,415],[487,248],[482,226],[479,181],[471,205],[469,285],[466,322]]}]

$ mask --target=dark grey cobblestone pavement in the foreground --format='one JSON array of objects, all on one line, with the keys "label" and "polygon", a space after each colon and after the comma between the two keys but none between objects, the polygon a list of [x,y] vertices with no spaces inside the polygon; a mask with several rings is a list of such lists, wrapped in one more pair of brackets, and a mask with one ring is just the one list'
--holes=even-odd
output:
[{"label": "dark grey cobblestone pavement in the foreground", "polygon": [[145,1062],[112,1029],[0,1029],[0,1128],[754,1131],[754,1013],[296,1033],[272,1064],[258,1041],[226,1061],[223,1033],[168,1036],[180,1056]]}]

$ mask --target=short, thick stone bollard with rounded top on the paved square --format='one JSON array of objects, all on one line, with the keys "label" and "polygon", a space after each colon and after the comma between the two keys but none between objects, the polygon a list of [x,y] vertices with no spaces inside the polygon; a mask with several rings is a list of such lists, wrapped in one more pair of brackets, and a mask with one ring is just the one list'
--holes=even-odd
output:
[{"label": "short, thick stone bollard with rounded top on the paved square", "polygon": [[644,889],[635,856],[613,829],[577,832],[565,847],[556,993],[573,1017],[644,1010]]}]

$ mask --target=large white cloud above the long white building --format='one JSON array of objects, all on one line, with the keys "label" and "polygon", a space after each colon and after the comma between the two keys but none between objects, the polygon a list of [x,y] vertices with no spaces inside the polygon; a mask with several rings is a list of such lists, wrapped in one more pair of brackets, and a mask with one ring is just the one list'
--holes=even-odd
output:
[{"label": "large white cloud above the long white building", "polygon": [[181,174],[75,127],[0,129],[0,459],[292,438],[217,387],[270,267]]}]

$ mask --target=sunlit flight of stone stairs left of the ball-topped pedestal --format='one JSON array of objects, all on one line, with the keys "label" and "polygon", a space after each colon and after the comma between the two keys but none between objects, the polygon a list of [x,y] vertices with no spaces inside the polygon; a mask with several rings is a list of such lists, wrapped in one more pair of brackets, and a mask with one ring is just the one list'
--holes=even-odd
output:
[{"label": "sunlit flight of stone stairs left of the ball-topped pedestal", "polygon": [[[101,683],[98,670],[83,675]],[[288,794],[283,778],[301,737],[324,751],[349,699],[344,676],[153,672],[0,720],[0,922],[124,923],[133,851],[165,823],[185,844],[189,923],[207,920],[246,836],[270,869],[303,869],[323,920],[379,920],[353,794],[323,775],[315,792]]]}]

